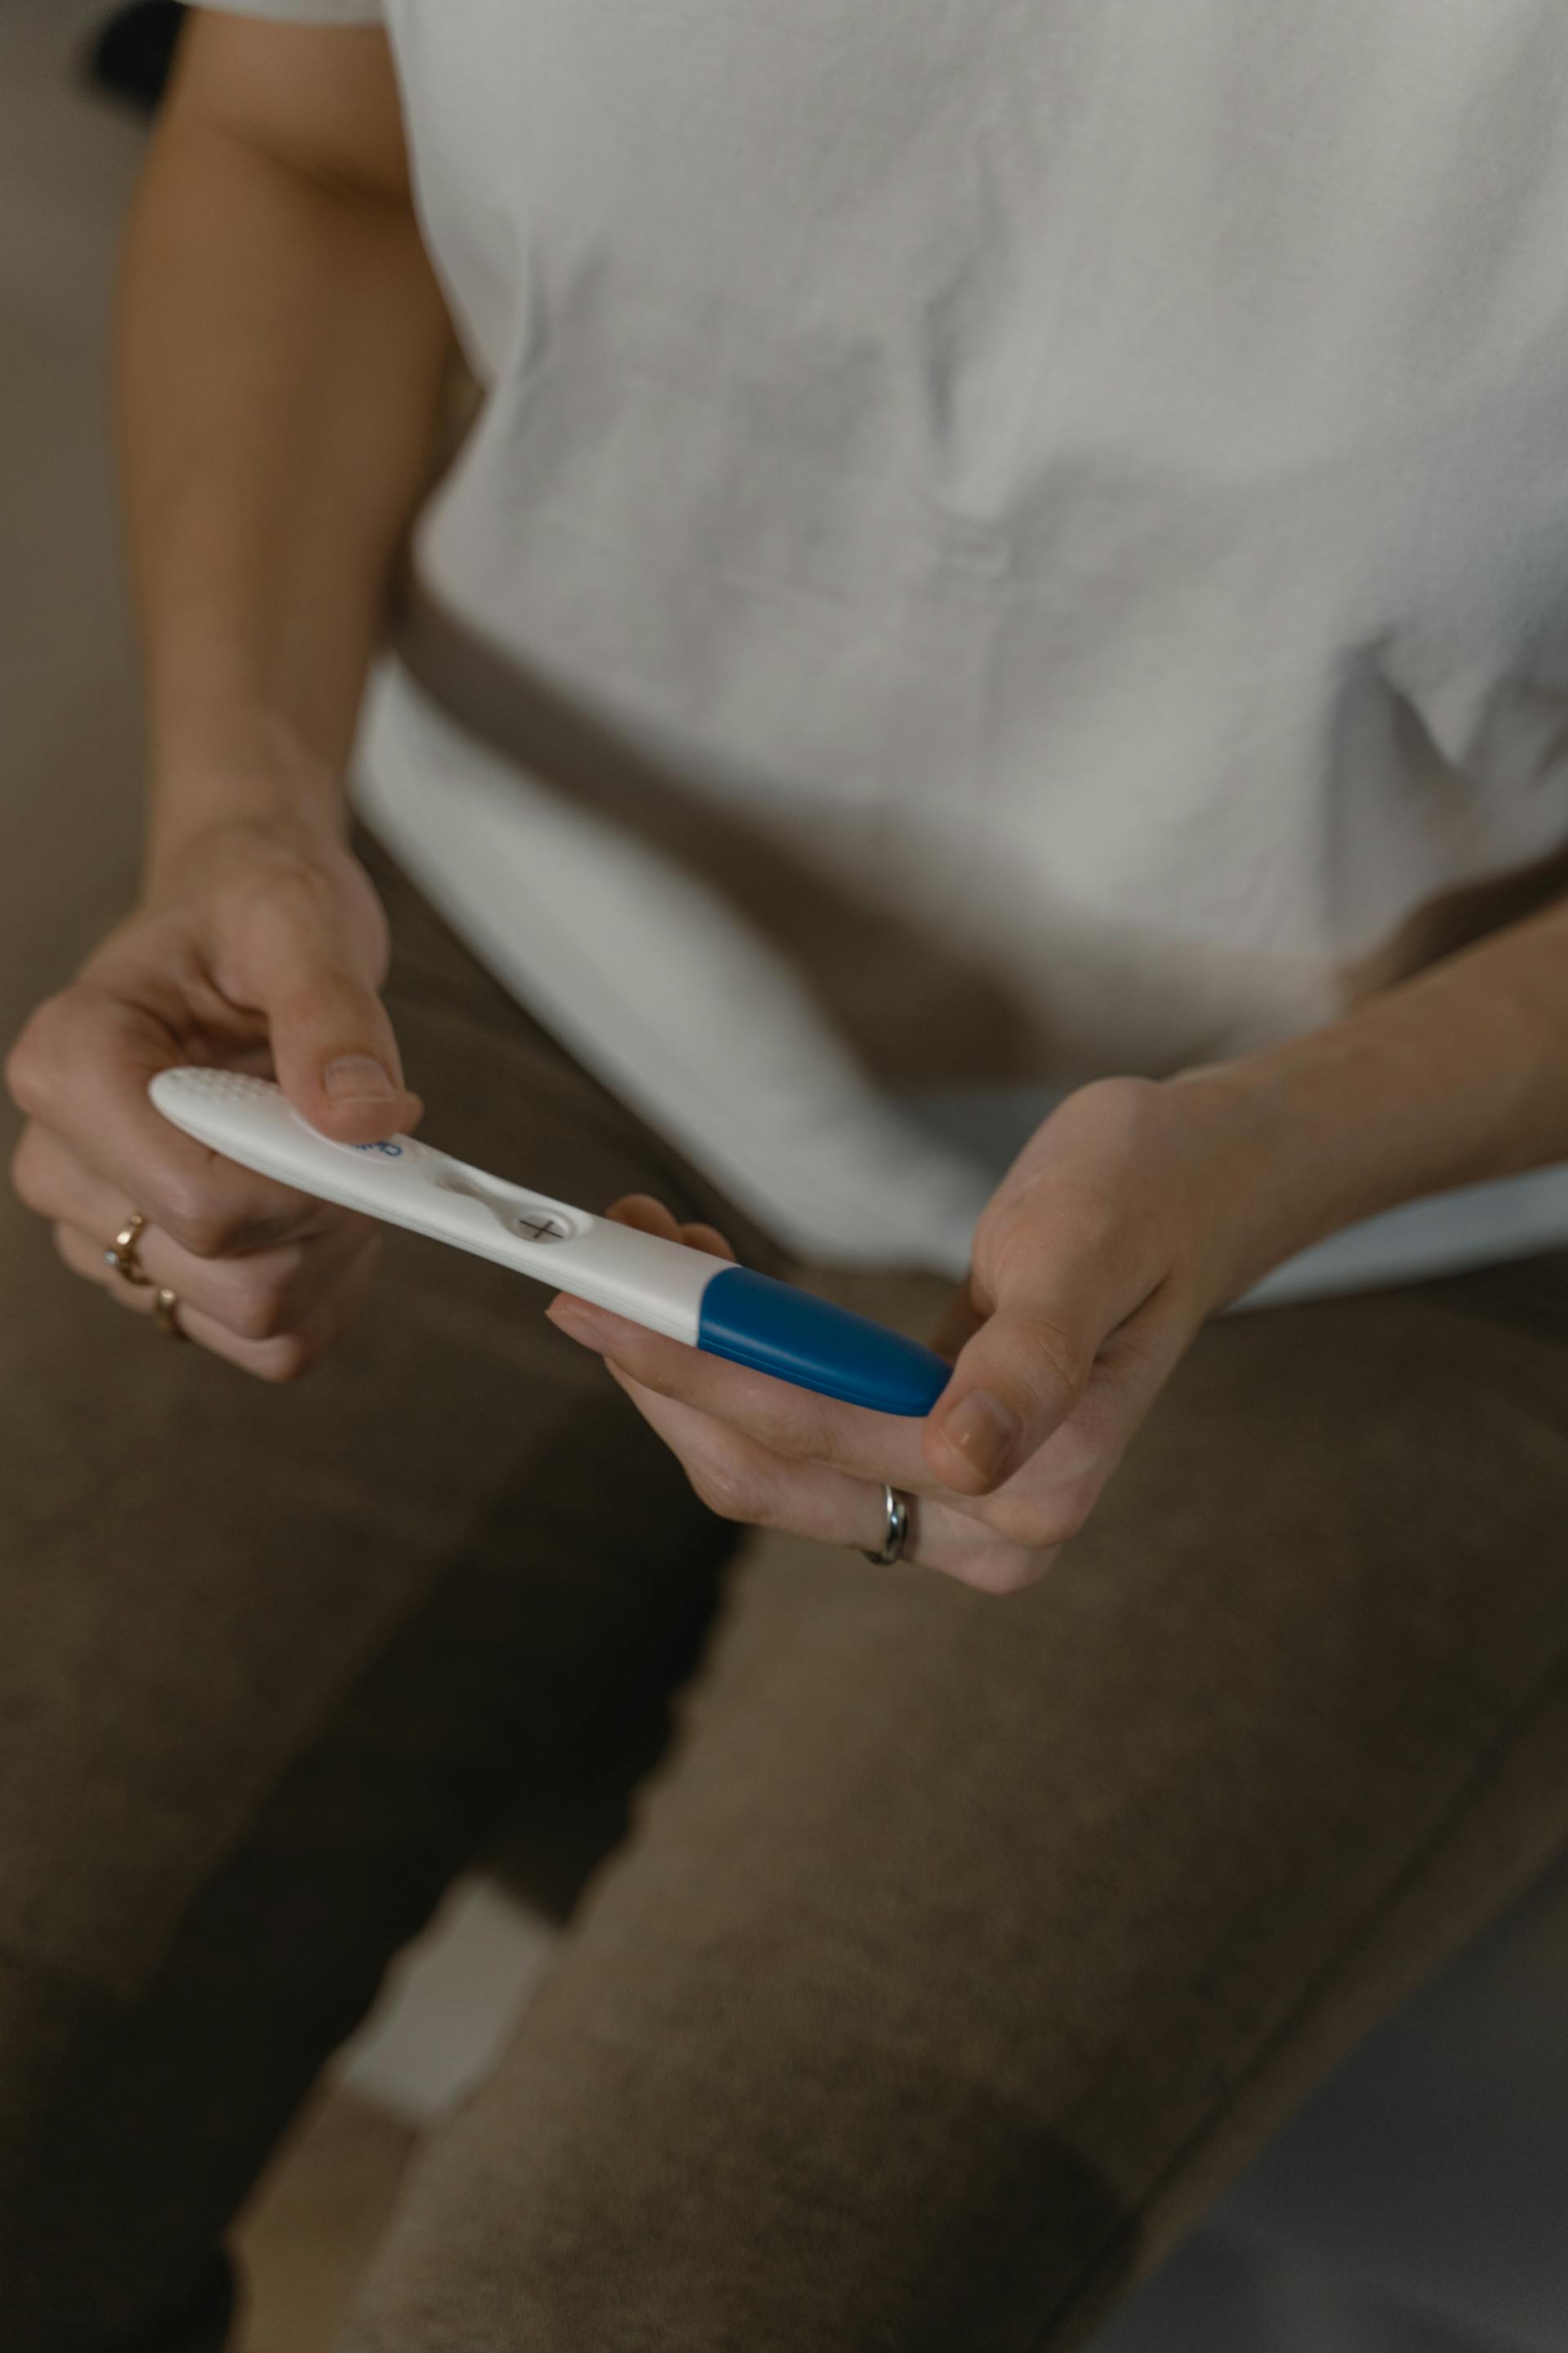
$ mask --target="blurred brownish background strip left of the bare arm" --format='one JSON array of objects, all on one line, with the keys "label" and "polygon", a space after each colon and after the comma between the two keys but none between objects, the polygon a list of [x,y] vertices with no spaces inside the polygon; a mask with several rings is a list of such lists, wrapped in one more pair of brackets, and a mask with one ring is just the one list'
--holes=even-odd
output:
[{"label": "blurred brownish background strip left of the bare arm", "polygon": [[101,14],[0,7],[0,1026],[71,972],[134,873],[139,720],[106,435],[129,113],[73,87]]}]

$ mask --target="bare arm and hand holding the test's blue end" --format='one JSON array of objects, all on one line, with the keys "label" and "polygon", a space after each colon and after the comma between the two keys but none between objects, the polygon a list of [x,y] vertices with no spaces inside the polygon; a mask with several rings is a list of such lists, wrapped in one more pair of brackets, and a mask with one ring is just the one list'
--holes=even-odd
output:
[{"label": "bare arm and hand holding the test's blue end", "polygon": [[[1095,1508],[1201,1322],[1340,1226],[1568,1160],[1568,906],[1493,934],[1307,1038],[1175,1080],[1103,1080],[1027,1144],[976,1228],[924,1426],[557,1299],[726,1518],[875,1546],[1011,1593]],[[672,1233],[656,1202],[618,1217]],[[715,1247],[689,1233],[698,1247]]]}]

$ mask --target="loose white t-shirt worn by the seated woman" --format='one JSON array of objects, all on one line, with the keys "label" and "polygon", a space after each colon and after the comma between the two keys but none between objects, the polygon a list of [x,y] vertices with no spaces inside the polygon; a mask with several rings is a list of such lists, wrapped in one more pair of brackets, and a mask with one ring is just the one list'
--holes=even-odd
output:
[{"label": "loose white t-shirt worn by the seated woman", "polygon": [[1563,887],[1561,0],[242,12],[386,21],[484,388],[360,807],[780,1240],[957,1273],[1084,1078]]}]

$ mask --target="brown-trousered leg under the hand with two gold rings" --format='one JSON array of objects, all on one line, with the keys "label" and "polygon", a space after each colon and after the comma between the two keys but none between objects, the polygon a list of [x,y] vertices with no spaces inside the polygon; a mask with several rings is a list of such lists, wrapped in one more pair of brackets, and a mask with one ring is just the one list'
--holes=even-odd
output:
[{"label": "brown-trousered leg under the hand with two gold rings", "polygon": [[[442,1141],[682,1191],[381,880]],[[733,1532],[543,1292],[435,1245],[296,1391],[118,1315],[21,1212],[0,1289],[0,2334],[209,2353],[221,2231],[322,2059],[503,1817],[543,1842],[607,1746],[646,1762]]]}]

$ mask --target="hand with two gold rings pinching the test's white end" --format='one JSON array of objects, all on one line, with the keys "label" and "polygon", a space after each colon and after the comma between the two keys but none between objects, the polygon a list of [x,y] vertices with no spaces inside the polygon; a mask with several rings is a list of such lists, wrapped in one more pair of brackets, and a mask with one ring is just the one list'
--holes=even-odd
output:
[{"label": "hand with two gold rings pinching the test's white end", "polygon": [[[188,1061],[249,1071],[339,1144],[407,1132],[421,1104],[386,967],[376,892],[327,828],[226,824],[165,861],[7,1064],[28,1115],[12,1179],[66,1266],[134,1313],[167,1287],[193,1341],[263,1381],[308,1372],[353,1322],[378,1228],[195,1144],[148,1080]],[[153,1287],[103,1257],[132,1212]]]}]

